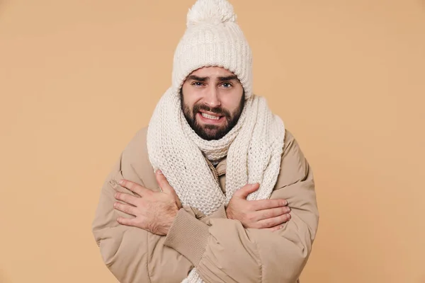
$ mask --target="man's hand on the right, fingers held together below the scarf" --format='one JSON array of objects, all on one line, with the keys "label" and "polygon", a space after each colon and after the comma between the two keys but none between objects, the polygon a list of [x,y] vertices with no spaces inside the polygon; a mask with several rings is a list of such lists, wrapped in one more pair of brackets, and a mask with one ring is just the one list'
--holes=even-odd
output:
[{"label": "man's hand on the right, fingers held together below the scarf", "polygon": [[290,208],[286,200],[246,200],[259,184],[249,184],[234,192],[227,205],[227,218],[241,221],[244,228],[276,231],[290,219]]}]

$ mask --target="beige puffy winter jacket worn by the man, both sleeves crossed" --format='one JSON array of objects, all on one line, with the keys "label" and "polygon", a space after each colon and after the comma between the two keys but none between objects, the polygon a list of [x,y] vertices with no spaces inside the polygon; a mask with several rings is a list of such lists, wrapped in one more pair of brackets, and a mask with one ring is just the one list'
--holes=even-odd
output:
[{"label": "beige puffy winter jacket worn by the man, both sleeves crossed", "polygon": [[[280,175],[272,199],[288,200],[292,218],[271,232],[244,229],[227,219],[225,207],[205,216],[183,207],[167,236],[117,223],[126,216],[113,209],[122,178],[159,190],[147,156],[147,128],[141,129],[106,178],[93,222],[93,233],[106,266],[121,283],[181,282],[193,267],[205,282],[293,283],[307,262],[319,213],[312,170],[290,132],[286,132]],[[211,170],[223,192],[226,160]]]}]

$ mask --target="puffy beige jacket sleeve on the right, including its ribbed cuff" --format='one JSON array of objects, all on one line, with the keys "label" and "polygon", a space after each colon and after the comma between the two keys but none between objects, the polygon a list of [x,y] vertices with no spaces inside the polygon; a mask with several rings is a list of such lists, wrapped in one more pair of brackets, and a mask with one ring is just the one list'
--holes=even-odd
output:
[{"label": "puffy beige jacket sleeve on the right, including its ribbed cuff", "polygon": [[[312,169],[289,132],[271,198],[288,200],[292,209],[279,231],[244,229],[239,221],[223,218],[203,223],[181,209],[165,245],[191,260],[205,282],[297,282],[312,250],[319,212]],[[193,236],[187,238],[185,231]]]}]

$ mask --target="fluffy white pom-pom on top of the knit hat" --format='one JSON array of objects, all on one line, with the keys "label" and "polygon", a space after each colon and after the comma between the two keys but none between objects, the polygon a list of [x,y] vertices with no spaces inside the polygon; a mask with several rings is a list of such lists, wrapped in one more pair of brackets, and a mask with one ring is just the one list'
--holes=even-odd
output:
[{"label": "fluffy white pom-pom on top of the knit hat", "polygon": [[188,27],[199,23],[236,22],[233,6],[227,0],[198,0],[188,11],[186,25]]}]

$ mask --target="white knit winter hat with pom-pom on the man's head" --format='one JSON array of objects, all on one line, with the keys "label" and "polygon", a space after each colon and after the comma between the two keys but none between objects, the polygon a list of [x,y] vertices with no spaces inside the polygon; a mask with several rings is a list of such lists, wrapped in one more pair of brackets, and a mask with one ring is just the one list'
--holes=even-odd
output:
[{"label": "white knit winter hat with pom-pom on the man's head", "polygon": [[191,72],[201,67],[223,67],[235,74],[252,94],[251,48],[236,23],[227,0],[198,0],[188,11],[187,28],[174,53],[173,90],[179,93]]}]

